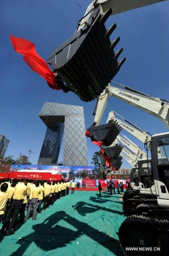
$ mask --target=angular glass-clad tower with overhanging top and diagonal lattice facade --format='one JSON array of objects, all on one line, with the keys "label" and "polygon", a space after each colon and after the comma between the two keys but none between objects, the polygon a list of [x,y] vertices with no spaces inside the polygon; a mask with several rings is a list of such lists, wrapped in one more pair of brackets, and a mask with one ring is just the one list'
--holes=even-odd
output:
[{"label": "angular glass-clad tower with overhanging top and diagonal lattice facade", "polygon": [[55,165],[63,142],[63,165],[88,166],[83,107],[45,102],[39,117],[46,125],[38,165]]}]

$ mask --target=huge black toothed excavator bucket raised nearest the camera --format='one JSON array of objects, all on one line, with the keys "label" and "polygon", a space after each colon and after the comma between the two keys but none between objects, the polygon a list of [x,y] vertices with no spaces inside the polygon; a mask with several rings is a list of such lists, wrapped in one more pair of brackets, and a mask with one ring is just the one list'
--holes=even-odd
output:
[{"label": "huge black toothed excavator bucket raised nearest the camera", "polygon": [[119,37],[113,42],[109,39],[116,24],[107,30],[105,27],[111,13],[111,8],[104,14],[95,9],[85,26],[57,47],[48,59],[48,64],[66,83],[63,91],[73,91],[82,101],[98,97],[125,61],[125,58],[117,60],[123,48],[116,53],[113,50]]}]

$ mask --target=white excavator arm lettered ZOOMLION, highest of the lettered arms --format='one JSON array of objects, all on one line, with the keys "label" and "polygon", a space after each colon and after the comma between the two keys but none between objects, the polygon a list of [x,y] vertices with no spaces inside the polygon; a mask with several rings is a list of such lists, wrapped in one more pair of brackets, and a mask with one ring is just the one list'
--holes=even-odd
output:
[{"label": "white excavator arm lettered ZOOMLION, highest of the lettered arms", "polygon": [[[120,85],[120,84],[119,84]],[[120,85],[122,86],[122,85]],[[139,108],[150,115],[153,115],[163,121],[165,126],[169,129],[169,102],[150,95],[138,92],[132,88],[123,86],[123,88],[116,88],[114,86],[107,86],[103,94],[100,95],[97,101],[97,109],[94,112],[94,123],[100,124],[102,115],[106,108],[109,96],[114,96],[130,105]]]}]

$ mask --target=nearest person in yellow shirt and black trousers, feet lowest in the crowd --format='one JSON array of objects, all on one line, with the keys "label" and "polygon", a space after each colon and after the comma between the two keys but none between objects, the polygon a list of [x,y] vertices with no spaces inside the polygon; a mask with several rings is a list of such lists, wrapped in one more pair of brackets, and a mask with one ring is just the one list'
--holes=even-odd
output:
[{"label": "nearest person in yellow shirt and black trousers, feet lowest in the crowd", "polygon": [[[27,180],[22,179],[21,181],[22,182],[18,183],[15,187],[15,193],[13,195],[13,202],[11,204],[11,207],[10,207],[8,213],[7,213],[4,224],[3,224],[2,228],[0,229],[0,232],[4,233],[6,227],[8,227],[8,229],[7,229],[8,236],[12,235],[14,233],[12,231],[12,229],[18,219],[19,211],[22,207],[22,203],[23,203],[24,197],[27,192],[27,186],[26,186]],[[12,220],[10,222],[11,218],[12,218]]]}]

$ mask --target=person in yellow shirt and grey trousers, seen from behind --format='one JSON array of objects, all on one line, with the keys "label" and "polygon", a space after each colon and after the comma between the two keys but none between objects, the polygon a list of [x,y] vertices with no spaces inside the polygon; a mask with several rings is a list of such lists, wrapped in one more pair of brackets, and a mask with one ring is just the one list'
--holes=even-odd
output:
[{"label": "person in yellow shirt and grey trousers, seen from behind", "polygon": [[38,195],[40,194],[41,189],[39,187],[39,182],[35,182],[35,187],[31,188],[31,194],[30,194],[30,203],[27,211],[27,215],[25,218],[25,221],[29,219],[31,209],[33,208],[33,213],[32,213],[32,220],[36,220],[36,214],[37,214],[37,207],[38,207]]}]

